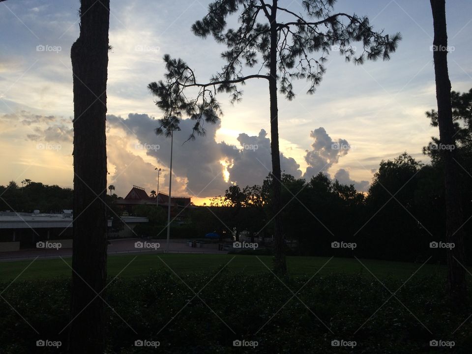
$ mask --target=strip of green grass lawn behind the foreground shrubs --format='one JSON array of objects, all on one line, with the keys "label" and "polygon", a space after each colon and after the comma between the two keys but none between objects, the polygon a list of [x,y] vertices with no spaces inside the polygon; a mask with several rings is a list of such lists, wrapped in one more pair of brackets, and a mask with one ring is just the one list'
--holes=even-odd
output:
[{"label": "strip of green grass lawn behind the foreground shrubs", "polygon": [[[327,263],[326,263],[327,262]],[[362,264],[365,266],[363,266]],[[66,264],[67,263],[67,264]],[[0,263],[0,282],[15,279],[50,279],[56,277],[69,277],[72,258],[62,259],[38,259],[34,262],[14,261]],[[132,278],[147,275],[150,269],[167,269],[177,274],[185,274],[196,271],[217,271],[227,265],[230,271],[256,274],[269,272],[264,264],[271,268],[271,256],[249,255],[208,255],[208,254],[145,254],[145,255],[114,255],[108,258],[109,276],[119,274],[123,278]],[[356,260],[355,258],[328,257],[287,257],[289,274],[313,275],[323,265],[319,275],[331,273],[364,274],[372,277],[369,270],[378,278],[407,279],[421,264],[388,262],[377,260]],[[69,266],[68,266],[69,265]],[[170,268],[170,269],[169,269]],[[368,270],[368,269],[369,270]],[[414,277],[432,273],[444,273],[445,267],[438,265],[424,265]]]}]

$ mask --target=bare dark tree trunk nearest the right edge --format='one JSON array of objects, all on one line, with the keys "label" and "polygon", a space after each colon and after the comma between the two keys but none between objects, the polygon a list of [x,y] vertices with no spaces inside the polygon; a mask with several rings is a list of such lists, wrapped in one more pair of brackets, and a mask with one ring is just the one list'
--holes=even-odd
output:
[{"label": "bare dark tree trunk nearest the right edge", "polygon": [[[434,26],[434,72],[436,76],[436,99],[438,101],[438,122],[440,141],[443,145],[452,146],[454,126],[451,107],[451,82],[447,70],[447,31],[445,0],[431,0]],[[462,303],[466,298],[464,264],[464,229],[462,229],[463,213],[461,195],[458,185],[458,166],[455,149],[442,148],[444,164],[444,185],[446,205],[446,238],[455,247],[447,251],[447,281],[450,295]],[[457,159],[456,159],[457,160]],[[455,259],[454,259],[455,258]]]}]

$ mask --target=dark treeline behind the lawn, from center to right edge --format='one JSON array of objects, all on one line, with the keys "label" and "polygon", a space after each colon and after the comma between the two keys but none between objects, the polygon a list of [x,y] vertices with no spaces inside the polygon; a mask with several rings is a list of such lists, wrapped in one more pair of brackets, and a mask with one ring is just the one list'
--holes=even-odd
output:
[{"label": "dark treeline behind the lawn, from center to right edge", "polygon": [[[443,261],[445,249],[445,206],[442,151],[454,149],[460,172],[459,187],[466,235],[472,232],[472,89],[452,91],[456,144],[444,146],[438,138],[423,148],[430,164],[416,161],[408,153],[382,161],[368,193],[354,185],[331,181],[323,173],[309,181],[282,177],[284,234],[298,241],[293,252],[319,256],[356,256],[397,261]],[[432,126],[438,126],[435,110],[426,112]],[[210,206],[193,213],[198,230],[204,222],[208,231],[230,232],[247,229],[264,236],[273,234],[271,185],[240,189],[231,186]],[[332,248],[332,242],[350,243],[351,248]],[[430,247],[431,242],[433,243]],[[355,248],[353,248],[355,243]],[[337,244],[336,244],[337,245]],[[438,246],[435,248],[434,246]],[[465,239],[466,257],[472,250]],[[288,252],[291,252],[288,250]],[[471,262],[469,261],[469,264]]]}]

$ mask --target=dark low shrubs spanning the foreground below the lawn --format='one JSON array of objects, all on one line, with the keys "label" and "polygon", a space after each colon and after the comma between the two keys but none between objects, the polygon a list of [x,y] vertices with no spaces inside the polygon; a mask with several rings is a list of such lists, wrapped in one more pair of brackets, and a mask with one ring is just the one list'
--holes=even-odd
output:
[{"label": "dark low shrubs spanning the foreground below the lawn", "polygon": [[[284,285],[267,274],[223,270],[214,277],[216,272],[178,278],[159,271],[114,280],[106,298],[116,311],[106,307],[108,353],[154,353],[134,347],[137,339],[159,341],[160,353],[182,354],[242,353],[233,347],[236,339],[258,341],[250,353],[353,353],[332,347],[335,339],[356,341],[358,353],[430,353],[433,339],[454,340],[453,353],[470,353],[471,321],[451,332],[472,309],[456,312],[437,276],[413,278],[395,294],[397,300],[362,275],[293,277]],[[403,284],[382,282],[392,292]],[[7,286],[0,284],[0,291]],[[65,352],[67,330],[57,333],[69,322],[69,280],[17,281],[2,296],[40,332],[1,301],[2,353],[36,353],[41,338],[62,341],[59,350],[41,353]]]}]

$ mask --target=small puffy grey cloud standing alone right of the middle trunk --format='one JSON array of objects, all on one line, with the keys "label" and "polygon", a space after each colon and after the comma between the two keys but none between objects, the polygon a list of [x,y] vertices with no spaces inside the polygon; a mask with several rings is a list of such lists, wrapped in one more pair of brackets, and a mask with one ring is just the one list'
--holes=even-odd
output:
[{"label": "small puffy grey cloud standing alone right of the middle trunk", "polygon": [[323,127],[313,130],[310,137],[314,142],[312,149],[306,150],[305,161],[308,164],[304,178],[309,180],[320,172],[326,171],[335,163],[338,163],[341,156],[345,156],[349,149],[347,140],[333,140],[326,133]]}]

